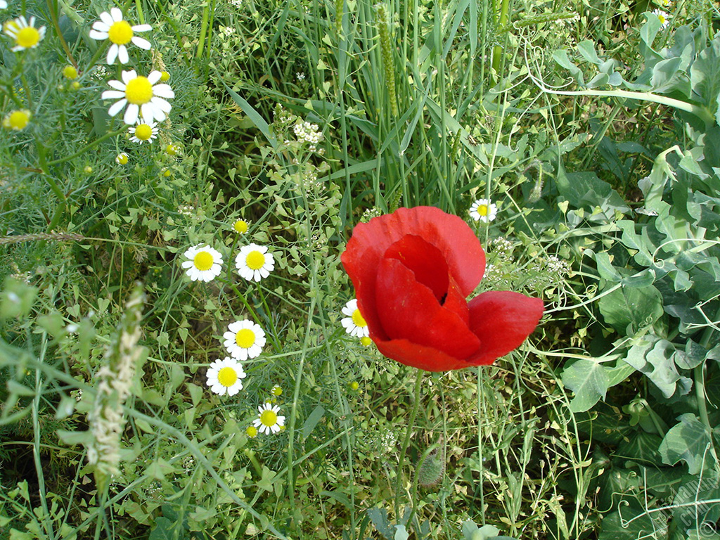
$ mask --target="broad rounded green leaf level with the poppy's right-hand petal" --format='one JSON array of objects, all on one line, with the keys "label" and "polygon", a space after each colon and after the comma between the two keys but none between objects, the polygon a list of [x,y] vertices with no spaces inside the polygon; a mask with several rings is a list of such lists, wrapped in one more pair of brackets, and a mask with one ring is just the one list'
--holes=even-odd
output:
[{"label": "broad rounded green leaf level with the poppy's right-hand petal", "polygon": [[653,285],[621,287],[600,298],[598,308],[608,325],[632,336],[662,317],[662,294]]}]

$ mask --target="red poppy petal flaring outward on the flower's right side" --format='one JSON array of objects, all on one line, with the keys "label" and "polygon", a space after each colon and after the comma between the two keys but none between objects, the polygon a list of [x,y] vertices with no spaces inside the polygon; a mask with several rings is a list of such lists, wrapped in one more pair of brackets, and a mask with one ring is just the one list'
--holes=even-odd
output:
[{"label": "red poppy petal flaring outward on the flower's right side", "polygon": [[480,351],[469,366],[492,364],[518,348],[542,317],[542,300],[518,292],[488,291],[470,300],[470,329],[480,338]]}]

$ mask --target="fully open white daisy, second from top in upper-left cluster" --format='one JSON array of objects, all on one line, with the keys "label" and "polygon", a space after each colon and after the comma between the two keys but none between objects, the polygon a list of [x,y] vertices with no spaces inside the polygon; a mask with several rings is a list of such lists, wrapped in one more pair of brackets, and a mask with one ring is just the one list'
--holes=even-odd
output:
[{"label": "fully open white daisy, second from top in upper-left cluster", "polygon": [[122,82],[108,81],[107,84],[114,90],[102,93],[102,99],[118,100],[107,109],[107,114],[115,116],[127,105],[122,117],[127,125],[135,124],[141,113],[145,122],[166,119],[172,106],[163,98],[173,98],[175,93],[168,84],[156,84],[161,77],[160,71],[150,71],[150,75],[143,77],[131,69],[123,71],[121,77]]}]

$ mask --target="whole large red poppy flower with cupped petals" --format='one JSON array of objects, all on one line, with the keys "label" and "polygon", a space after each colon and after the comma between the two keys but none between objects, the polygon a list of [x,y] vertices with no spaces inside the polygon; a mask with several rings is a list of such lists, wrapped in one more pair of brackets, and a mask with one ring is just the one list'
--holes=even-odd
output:
[{"label": "whole large red poppy flower with cupped petals", "polygon": [[400,208],[359,223],[341,256],[358,308],[382,354],[428,372],[492,364],[539,322],[538,298],[488,291],[466,222],[434,207]]}]

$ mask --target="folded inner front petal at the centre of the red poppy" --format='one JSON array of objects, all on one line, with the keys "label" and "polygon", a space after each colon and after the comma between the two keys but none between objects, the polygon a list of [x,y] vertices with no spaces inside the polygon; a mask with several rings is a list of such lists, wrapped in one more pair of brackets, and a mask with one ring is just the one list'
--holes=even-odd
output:
[{"label": "folded inner front petal at the centre of the red poppy", "polygon": [[406,339],[456,359],[467,358],[480,347],[467,326],[465,302],[451,302],[459,312],[441,306],[433,291],[396,258],[380,262],[375,301],[382,330],[391,340]]}]

